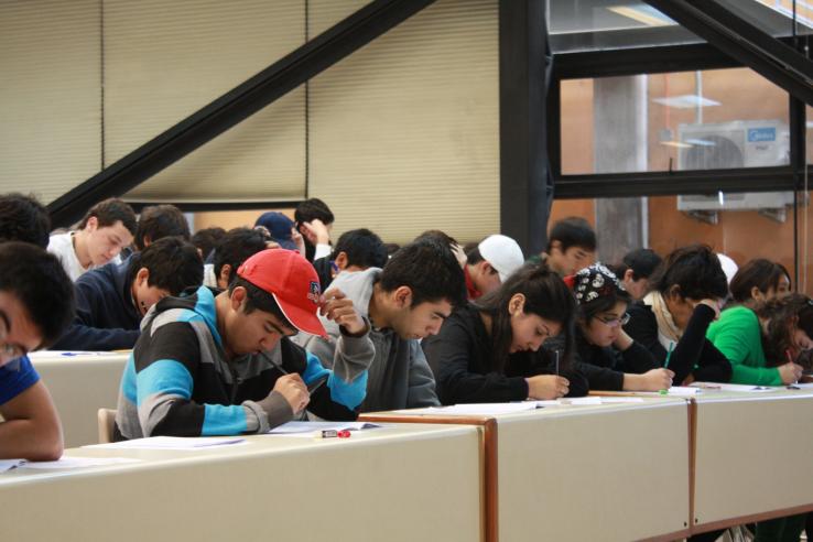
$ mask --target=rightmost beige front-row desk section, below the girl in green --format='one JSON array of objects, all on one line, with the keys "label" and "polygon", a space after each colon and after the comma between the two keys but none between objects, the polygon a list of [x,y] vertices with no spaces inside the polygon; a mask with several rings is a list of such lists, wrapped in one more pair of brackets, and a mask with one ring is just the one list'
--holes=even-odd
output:
[{"label": "rightmost beige front-row desk section, below the girl in green", "polygon": [[704,392],[696,404],[695,524],[813,503],[813,392]]}]

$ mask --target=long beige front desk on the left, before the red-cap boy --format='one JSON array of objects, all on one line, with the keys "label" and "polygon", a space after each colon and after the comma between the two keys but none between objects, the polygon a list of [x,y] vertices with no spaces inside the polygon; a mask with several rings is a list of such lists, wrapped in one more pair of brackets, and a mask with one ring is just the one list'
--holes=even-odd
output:
[{"label": "long beige front desk on the left, before the red-cap boy", "polygon": [[475,427],[252,435],[199,452],[74,448],[142,463],[0,475],[3,540],[481,540]]}]

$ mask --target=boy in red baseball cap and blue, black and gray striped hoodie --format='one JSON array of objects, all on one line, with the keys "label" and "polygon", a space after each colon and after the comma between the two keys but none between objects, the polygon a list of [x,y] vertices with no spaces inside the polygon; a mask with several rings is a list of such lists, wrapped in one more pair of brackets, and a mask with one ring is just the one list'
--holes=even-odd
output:
[{"label": "boy in red baseball cap and blue, black and gray striped hoodie", "polygon": [[[319,312],[342,330],[332,371],[288,338],[325,335]],[[122,377],[115,437],[263,433],[305,406],[353,420],[375,355],[369,329],[340,291],[321,294],[302,256],[258,252],[227,291],[165,297],[145,316]]]}]

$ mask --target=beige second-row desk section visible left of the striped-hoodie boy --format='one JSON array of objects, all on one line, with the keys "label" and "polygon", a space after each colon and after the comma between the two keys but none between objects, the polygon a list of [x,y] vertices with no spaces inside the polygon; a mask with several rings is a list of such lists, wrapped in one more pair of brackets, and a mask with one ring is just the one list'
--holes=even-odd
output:
[{"label": "beige second-row desk section visible left of the striped-hoodie boy", "polygon": [[48,350],[30,355],[59,413],[66,447],[98,442],[96,413],[99,409],[116,408],[129,356],[128,353],[64,356]]}]

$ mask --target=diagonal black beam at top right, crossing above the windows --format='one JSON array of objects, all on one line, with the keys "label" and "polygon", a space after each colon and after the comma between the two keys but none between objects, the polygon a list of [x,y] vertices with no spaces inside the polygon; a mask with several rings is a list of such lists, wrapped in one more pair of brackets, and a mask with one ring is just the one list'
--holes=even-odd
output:
[{"label": "diagonal black beam at top right, crossing above the windows", "polygon": [[646,0],[727,55],[813,105],[813,63],[714,0]]}]

